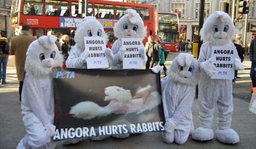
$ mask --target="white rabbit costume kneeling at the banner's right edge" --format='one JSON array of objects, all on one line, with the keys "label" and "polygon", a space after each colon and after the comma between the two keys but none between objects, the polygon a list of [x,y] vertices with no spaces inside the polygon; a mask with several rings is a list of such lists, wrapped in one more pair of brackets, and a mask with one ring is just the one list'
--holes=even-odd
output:
[{"label": "white rabbit costume kneeling at the banner's right edge", "polygon": [[179,54],[161,79],[166,123],[162,132],[166,143],[183,144],[194,130],[191,107],[198,83],[199,66],[192,54]]}]

